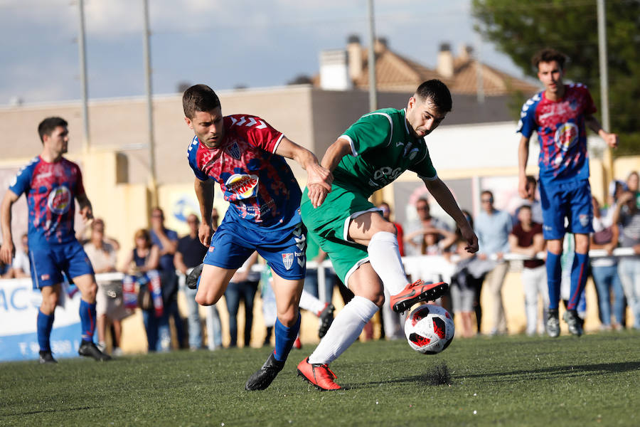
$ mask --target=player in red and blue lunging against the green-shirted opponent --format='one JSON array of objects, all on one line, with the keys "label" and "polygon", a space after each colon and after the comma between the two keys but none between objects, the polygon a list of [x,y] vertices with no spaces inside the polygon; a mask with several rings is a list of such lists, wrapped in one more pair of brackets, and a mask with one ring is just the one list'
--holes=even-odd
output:
[{"label": "player in red and blue lunging against the green-shirted opponent", "polygon": [[[194,85],[183,95],[185,121],[196,134],[188,161],[203,221],[198,236],[208,252],[188,285],[196,285],[196,302],[213,305],[249,255],[257,251],[270,265],[277,305],[275,349],[252,374],[247,390],[266,389],[284,367],[300,328],[298,304],[306,274],[306,229],[300,218],[302,191],[284,157],[294,159],[308,181],[326,191],[331,173],[309,150],[300,147],[265,120],[252,115],[224,117],[218,95]],[[218,181],[229,208],[213,234],[213,185]],[[213,238],[212,238],[213,234]]]}]

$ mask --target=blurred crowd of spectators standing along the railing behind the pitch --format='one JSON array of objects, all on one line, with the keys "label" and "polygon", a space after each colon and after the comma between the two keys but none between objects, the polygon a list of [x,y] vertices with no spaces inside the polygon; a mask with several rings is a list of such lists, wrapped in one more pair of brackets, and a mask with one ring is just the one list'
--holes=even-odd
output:
[{"label": "blurred crowd of spectators standing along the railing behind the pitch", "polygon": [[[479,238],[479,252],[464,251],[465,241],[459,229],[432,216],[427,199],[415,201],[415,220],[405,224],[393,222],[390,204],[378,205],[381,214],[392,221],[398,230],[398,245],[402,256],[441,257],[442,263],[452,268],[444,268],[450,281],[449,297],[442,297],[438,303],[455,316],[459,316],[459,336],[472,337],[480,333],[483,310],[481,292],[489,296],[491,310],[489,333],[506,334],[507,322],[503,307],[502,288],[508,270],[520,269],[523,287],[523,302],[520,307],[526,316],[524,331],[529,336],[545,333],[546,310],[548,306],[547,275],[545,273],[545,240],[543,238],[540,201],[536,196],[536,179],[527,177],[527,199],[522,199],[514,212],[501,211],[494,206],[494,194],[484,189],[480,194],[479,213],[472,218],[469,211],[464,214],[474,226]],[[640,189],[639,174],[631,172],[626,181],[612,181],[609,198],[599,201],[592,197],[593,228],[590,247],[599,255],[590,258],[590,275],[593,279],[600,328],[603,331],[622,330],[625,327],[640,329]],[[265,345],[270,345],[272,322],[274,320],[274,299],[270,289],[268,268],[262,265],[257,253],[242,265],[233,276],[225,291],[225,305],[211,305],[202,309],[196,304],[196,290],[185,285],[188,273],[199,265],[207,248],[198,238],[200,218],[196,214],[186,217],[188,234],[178,237],[176,231],[166,228],[164,212],[155,208],[151,212],[151,227],[142,228],[132,236],[132,249],[121,253],[122,262],[117,263],[120,243],[105,233],[105,222],[96,218],[86,229],[78,232],[78,240],[85,248],[95,273],[97,273],[97,334],[98,347],[109,350],[114,355],[122,354],[122,320],[135,310],[142,312],[146,347],[149,352],[179,349],[220,349],[223,347],[223,331],[218,310],[228,312],[228,347],[250,345],[254,315],[255,297],[262,298],[262,312],[265,318]],[[213,209],[214,230],[219,221],[218,211]],[[570,238],[565,239],[565,246]],[[625,255],[614,255],[616,248],[627,248]],[[569,257],[571,248],[565,248]],[[28,278],[30,261],[28,236],[21,236],[21,246],[11,265],[0,265],[1,278]],[[508,256],[510,254],[511,256]],[[515,256],[514,256],[515,255]],[[320,265],[326,258],[313,242],[307,248],[307,260]],[[563,271],[570,270],[571,260],[563,260]],[[424,259],[424,258],[419,258]],[[515,262],[514,262],[515,259]],[[432,265],[432,264],[427,264]],[[331,268],[320,267],[324,271],[324,288],[321,288],[318,269],[309,268],[305,281],[305,294],[311,295],[306,302],[316,315],[320,315],[333,300],[334,289],[338,290],[346,303],[353,297],[333,273]],[[262,275],[260,273],[262,271]],[[431,271],[434,281],[442,279],[438,271]],[[412,271],[407,268],[407,271]],[[117,279],[101,280],[100,273],[119,272]],[[424,274],[423,274],[424,273]],[[430,274],[428,268],[421,275]],[[568,279],[567,279],[568,280]],[[564,283],[563,288],[567,288]],[[182,317],[178,310],[178,293],[183,292],[186,306]],[[562,290],[562,300],[568,300],[568,290]],[[388,297],[388,295],[387,295]],[[303,297],[304,300],[305,297]],[[318,299],[321,305],[318,304]],[[585,301],[579,305],[579,313],[584,319]],[[316,302],[314,302],[316,301]],[[238,314],[240,303],[244,306],[244,327],[240,331]],[[314,305],[315,304],[315,305]],[[302,307],[302,303],[301,303]],[[629,307],[631,318],[626,317]],[[378,336],[386,339],[404,337],[403,317],[384,305],[380,317],[367,325],[364,339],[373,339],[374,328],[379,328]],[[206,312],[204,319],[201,311]],[[172,337],[174,342],[172,342]],[[107,343],[107,341],[109,341]],[[300,347],[299,340],[296,347]]]}]

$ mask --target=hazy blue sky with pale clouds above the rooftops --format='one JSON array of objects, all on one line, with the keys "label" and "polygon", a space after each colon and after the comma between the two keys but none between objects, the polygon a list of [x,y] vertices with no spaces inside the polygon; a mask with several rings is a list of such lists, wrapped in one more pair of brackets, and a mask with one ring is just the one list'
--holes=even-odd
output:
[{"label": "hazy blue sky with pale clouds above the rooftops", "polygon": [[[522,76],[473,31],[469,0],[375,0],[375,30],[394,51],[434,66],[440,43],[480,47],[484,63]],[[355,33],[367,44],[366,0],[149,0],[154,93],[178,83],[284,85],[319,70],[322,49]],[[85,0],[90,98],[144,94],[142,0]],[[0,0],[0,105],[80,98],[78,7]]]}]

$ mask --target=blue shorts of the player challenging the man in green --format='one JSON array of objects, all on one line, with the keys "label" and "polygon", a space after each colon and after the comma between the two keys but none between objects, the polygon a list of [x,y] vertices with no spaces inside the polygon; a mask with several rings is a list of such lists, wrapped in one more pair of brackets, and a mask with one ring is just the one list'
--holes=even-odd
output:
[{"label": "blue shorts of the player challenging the man in green", "polygon": [[253,251],[267,260],[267,264],[281,278],[303,279],[306,275],[306,228],[302,221],[287,228],[265,231],[247,228],[240,221],[225,216],[213,233],[211,245],[203,263],[235,270]]}]

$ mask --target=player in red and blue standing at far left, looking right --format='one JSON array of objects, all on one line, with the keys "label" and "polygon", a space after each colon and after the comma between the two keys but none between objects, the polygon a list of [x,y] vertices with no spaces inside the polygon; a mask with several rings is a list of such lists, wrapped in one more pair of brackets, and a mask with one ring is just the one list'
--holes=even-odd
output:
[{"label": "player in red and blue standing at far left, looking right", "polygon": [[67,152],[69,131],[60,117],[48,117],[38,125],[43,144],[42,153],[31,160],[18,174],[4,194],[0,208],[2,236],[0,258],[9,263],[14,254],[11,238],[11,206],[21,194],[26,194],[29,210],[29,258],[33,288],[42,293],[38,311],[38,344],[40,362],[55,363],[51,354],[50,334],[55,306],[58,305],[64,272],[81,292],[80,323],[81,356],[109,360],[93,342],[95,331],[95,294],[97,285],[93,268],[84,249],[75,238],[73,218],[75,200],[83,221],[93,218],[91,203],[82,186],[82,174],[77,164],[63,157]]}]

